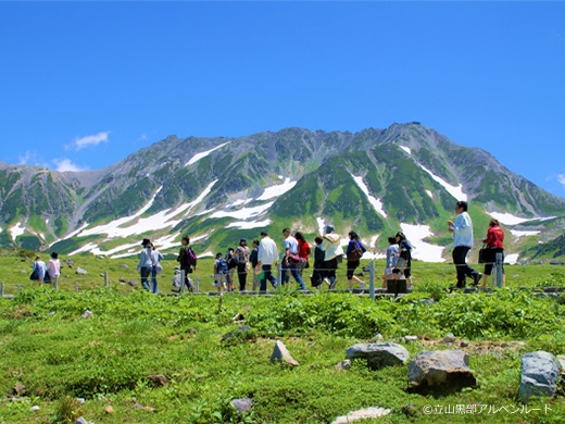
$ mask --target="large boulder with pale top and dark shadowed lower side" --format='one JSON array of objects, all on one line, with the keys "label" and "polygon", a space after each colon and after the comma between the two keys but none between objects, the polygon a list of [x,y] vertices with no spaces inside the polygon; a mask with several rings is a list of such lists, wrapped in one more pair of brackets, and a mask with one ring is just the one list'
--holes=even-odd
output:
[{"label": "large boulder with pale top and dark shadowed lower side", "polygon": [[419,394],[450,394],[477,384],[463,350],[423,350],[409,364],[410,389]]}]

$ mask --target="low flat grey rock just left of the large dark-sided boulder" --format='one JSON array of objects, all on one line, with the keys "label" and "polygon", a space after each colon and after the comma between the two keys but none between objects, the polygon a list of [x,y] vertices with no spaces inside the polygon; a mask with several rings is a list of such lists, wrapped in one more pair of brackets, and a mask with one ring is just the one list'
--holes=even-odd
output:
[{"label": "low flat grey rock just left of the large dark-sided boulder", "polygon": [[386,344],[357,344],[347,349],[348,359],[366,359],[367,366],[378,370],[384,366],[401,365],[410,359],[410,353],[401,345]]}]

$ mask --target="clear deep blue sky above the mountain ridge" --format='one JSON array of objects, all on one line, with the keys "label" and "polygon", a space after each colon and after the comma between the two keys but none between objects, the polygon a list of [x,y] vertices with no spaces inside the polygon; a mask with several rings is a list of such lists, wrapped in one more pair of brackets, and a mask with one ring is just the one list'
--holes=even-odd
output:
[{"label": "clear deep blue sky above the mountain ridge", "polygon": [[0,2],[0,161],[419,121],[565,197],[565,2]]}]

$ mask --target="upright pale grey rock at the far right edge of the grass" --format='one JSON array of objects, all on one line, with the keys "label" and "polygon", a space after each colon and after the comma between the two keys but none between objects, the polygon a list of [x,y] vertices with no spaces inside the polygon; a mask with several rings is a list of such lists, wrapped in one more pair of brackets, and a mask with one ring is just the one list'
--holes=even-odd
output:
[{"label": "upright pale grey rock at the far right edge of the grass", "polygon": [[553,354],[542,350],[524,354],[518,399],[528,403],[532,397],[553,397],[558,375],[560,364]]}]

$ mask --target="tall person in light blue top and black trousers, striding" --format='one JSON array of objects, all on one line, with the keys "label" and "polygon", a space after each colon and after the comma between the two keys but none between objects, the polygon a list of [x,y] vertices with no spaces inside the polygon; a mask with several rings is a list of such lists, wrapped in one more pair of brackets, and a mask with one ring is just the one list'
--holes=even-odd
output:
[{"label": "tall person in light blue top and black trousers, striding", "polygon": [[448,220],[448,229],[453,234],[455,241],[453,249],[453,263],[457,271],[457,284],[452,288],[465,288],[465,276],[473,278],[473,287],[477,287],[482,274],[473,270],[466,263],[468,251],[473,248],[473,222],[467,213],[467,202],[461,200],[455,204],[457,217],[455,223]]}]

